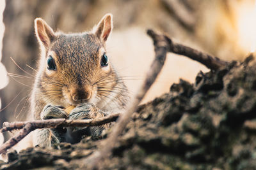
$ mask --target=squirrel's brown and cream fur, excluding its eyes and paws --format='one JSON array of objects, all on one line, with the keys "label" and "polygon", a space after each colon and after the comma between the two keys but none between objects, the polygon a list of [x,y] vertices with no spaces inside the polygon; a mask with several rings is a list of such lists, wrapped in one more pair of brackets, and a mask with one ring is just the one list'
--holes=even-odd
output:
[{"label": "squirrel's brown and cream fur, excluding its eyes and paws", "polygon": [[[90,111],[88,118],[124,110],[129,98],[122,78],[110,62],[106,67],[100,65],[102,55],[108,56],[106,40],[112,27],[111,15],[105,15],[91,32],[64,34],[53,32],[44,20],[36,18],[36,36],[42,52],[31,96],[31,113],[35,119],[42,118],[49,104],[62,108],[70,104],[95,104],[99,111]],[[56,63],[56,71],[47,69],[49,55]],[[42,134],[36,138],[41,137]],[[45,141],[39,143],[44,145]]]}]

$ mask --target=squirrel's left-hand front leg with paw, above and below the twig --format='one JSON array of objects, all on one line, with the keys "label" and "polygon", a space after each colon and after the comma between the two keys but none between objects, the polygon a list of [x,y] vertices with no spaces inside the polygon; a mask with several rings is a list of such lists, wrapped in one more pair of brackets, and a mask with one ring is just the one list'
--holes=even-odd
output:
[{"label": "squirrel's left-hand front leg with paw, above and below the twig", "polygon": [[[47,120],[51,118],[68,118],[67,113],[58,106],[52,106],[48,104],[44,107],[42,113],[40,114],[42,120]],[[37,129],[34,133],[33,143],[34,145],[51,147],[54,143],[60,143],[65,141],[65,133],[67,129],[63,128],[44,128]]]}]

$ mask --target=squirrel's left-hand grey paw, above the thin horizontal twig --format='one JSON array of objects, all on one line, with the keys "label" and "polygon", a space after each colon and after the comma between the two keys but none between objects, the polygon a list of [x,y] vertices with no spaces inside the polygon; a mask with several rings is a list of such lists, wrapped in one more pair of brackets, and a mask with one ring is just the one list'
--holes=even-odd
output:
[{"label": "squirrel's left-hand grey paw, above the thin horizontal twig", "polygon": [[42,120],[51,118],[68,118],[68,115],[59,106],[52,106],[51,104],[47,104],[41,113],[41,118]]}]

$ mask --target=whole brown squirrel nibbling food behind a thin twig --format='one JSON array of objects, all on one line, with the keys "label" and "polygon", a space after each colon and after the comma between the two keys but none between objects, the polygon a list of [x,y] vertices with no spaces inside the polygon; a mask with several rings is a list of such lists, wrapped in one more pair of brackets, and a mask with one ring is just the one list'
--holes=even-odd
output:
[{"label": "whole brown squirrel nibbling food behind a thin twig", "polygon": [[[35,33],[41,57],[31,94],[35,120],[50,118],[93,119],[123,113],[129,92],[109,61],[106,41],[113,29],[106,14],[90,32],[54,32],[42,18],[35,19]],[[68,106],[76,106],[69,114]],[[37,129],[33,145],[79,141],[83,134],[100,136],[110,124],[98,127]]]}]

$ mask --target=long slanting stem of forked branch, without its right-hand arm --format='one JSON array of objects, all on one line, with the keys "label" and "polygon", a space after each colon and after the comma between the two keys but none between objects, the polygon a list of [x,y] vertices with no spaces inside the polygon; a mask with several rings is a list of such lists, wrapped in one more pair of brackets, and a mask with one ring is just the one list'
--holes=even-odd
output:
[{"label": "long slanting stem of forked branch, without its right-hand arm", "polygon": [[166,59],[166,53],[168,50],[170,50],[168,39],[166,39],[166,36],[156,34],[156,32],[152,30],[148,30],[147,34],[154,41],[156,57],[152,62],[150,69],[148,70],[143,85],[141,85],[140,90],[138,90],[137,95],[134,97],[131,105],[127,108],[125,113],[120,115],[116,125],[113,127],[113,131],[111,134],[109,134],[109,138],[107,138],[103,144],[104,147],[102,147],[99,151],[95,151],[90,157],[85,159],[84,166],[88,166],[89,169],[97,167],[99,165],[98,163],[101,162],[102,159],[108,157],[108,155],[111,153],[111,150],[114,148],[115,143],[118,140],[118,136],[124,131],[132,113],[136,111],[138,104],[140,104],[148,89],[150,89],[151,85],[156,80],[157,75],[163,68],[164,61]]}]

